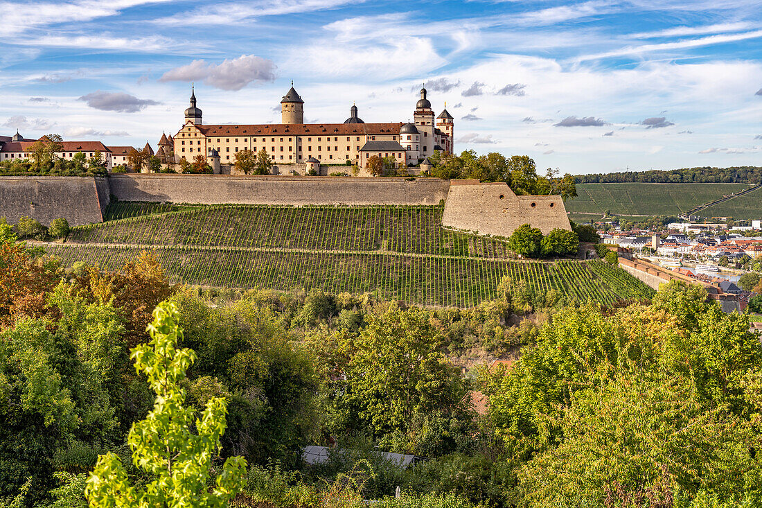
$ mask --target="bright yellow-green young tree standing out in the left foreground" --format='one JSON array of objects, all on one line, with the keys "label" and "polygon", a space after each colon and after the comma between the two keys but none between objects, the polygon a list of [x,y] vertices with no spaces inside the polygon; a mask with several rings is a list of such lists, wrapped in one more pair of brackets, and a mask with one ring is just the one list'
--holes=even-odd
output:
[{"label": "bright yellow-green young tree standing out in the left foreground", "polygon": [[174,322],[173,304],[159,304],[153,315],[151,342],[132,349],[130,358],[136,371],[148,376],[156,401],[146,420],[133,424],[127,443],[135,465],[154,479],[146,487],[133,486],[117,455],[100,455],[87,480],[90,506],[227,506],[242,489],[243,458],[228,458],[215,487],[207,488],[212,459],[226,429],[226,400],[211,397],[195,420],[198,435],[191,433],[195,410],[184,407],[181,382],[196,354],[176,347],[182,330]]}]

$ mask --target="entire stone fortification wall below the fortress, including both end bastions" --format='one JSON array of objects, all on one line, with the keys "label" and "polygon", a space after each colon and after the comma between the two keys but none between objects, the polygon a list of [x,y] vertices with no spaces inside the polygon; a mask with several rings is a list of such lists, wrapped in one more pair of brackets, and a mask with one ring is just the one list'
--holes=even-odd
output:
[{"label": "entire stone fortification wall below the fortress, including both end bastions", "polygon": [[442,223],[454,230],[510,236],[524,223],[543,233],[570,229],[558,196],[517,196],[504,183],[438,178],[238,175],[110,175],[109,178],[2,177],[0,217],[77,226],[102,222],[110,198],[193,204],[422,204],[445,200]]}]

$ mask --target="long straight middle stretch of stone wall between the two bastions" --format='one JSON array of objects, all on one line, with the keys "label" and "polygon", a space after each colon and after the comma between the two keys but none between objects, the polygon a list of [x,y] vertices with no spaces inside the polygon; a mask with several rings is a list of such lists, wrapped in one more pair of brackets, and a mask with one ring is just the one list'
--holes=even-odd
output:
[{"label": "long straight middle stretch of stone wall between the two bastions", "polygon": [[111,175],[109,184],[119,201],[296,206],[438,204],[450,186],[438,178],[131,174]]}]

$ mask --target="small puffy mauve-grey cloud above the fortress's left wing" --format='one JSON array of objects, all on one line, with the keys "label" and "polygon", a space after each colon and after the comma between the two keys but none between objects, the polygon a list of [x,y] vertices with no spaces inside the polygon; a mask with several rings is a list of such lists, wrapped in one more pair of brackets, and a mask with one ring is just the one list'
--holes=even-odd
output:
[{"label": "small puffy mauve-grey cloud above the fortress's left wing", "polygon": [[203,81],[205,84],[223,90],[240,90],[251,82],[272,82],[275,80],[275,63],[255,55],[241,55],[236,59],[225,59],[214,65],[204,60],[194,60],[187,66],[171,69],[158,80]]}]

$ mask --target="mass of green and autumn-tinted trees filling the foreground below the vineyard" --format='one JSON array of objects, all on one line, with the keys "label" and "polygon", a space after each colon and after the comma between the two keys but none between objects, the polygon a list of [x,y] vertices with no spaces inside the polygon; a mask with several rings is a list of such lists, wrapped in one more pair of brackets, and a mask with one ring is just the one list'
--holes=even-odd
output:
[{"label": "mass of green and autumn-tinted trees filling the foreground below the vineyard", "polygon": [[677,281],[604,306],[504,278],[469,309],[202,291],[0,225],[0,506],[759,506],[748,328]]}]

